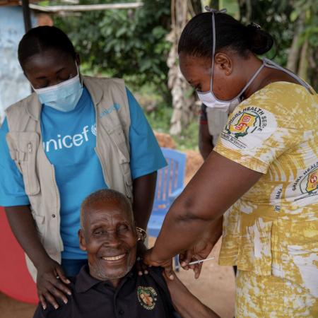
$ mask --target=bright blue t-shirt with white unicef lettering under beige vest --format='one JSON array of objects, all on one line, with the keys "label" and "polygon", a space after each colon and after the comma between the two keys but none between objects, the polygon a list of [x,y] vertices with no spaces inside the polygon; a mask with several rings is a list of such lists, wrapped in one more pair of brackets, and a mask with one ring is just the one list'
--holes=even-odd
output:
[{"label": "bright blue t-shirt with white unicef lettering under beige vest", "polygon": [[[126,93],[131,117],[131,176],[136,179],[159,170],[166,163],[141,107],[129,90]],[[113,107],[113,111],[117,109]],[[71,112],[59,112],[44,105],[41,130],[42,146],[49,162],[54,165],[61,200],[60,230],[64,242],[62,258],[86,258],[86,252],[79,248],[77,236],[81,202],[90,193],[107,187],[94,150],[95,108],[88,90],[84,88],[81,99]],[[0,129],[0,206],[28,205],[30,203],[25,194],[23,177],[8,152],[5,138],[7,132],[5,119]]]}]

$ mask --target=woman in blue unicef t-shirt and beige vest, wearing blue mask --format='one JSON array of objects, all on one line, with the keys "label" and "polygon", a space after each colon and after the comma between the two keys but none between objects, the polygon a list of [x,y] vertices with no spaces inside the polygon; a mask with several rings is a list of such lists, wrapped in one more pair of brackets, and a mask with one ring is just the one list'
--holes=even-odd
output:
[{"label": "woman in blue unicef t-shirt and beige vest, wearing blue mask", "polygon": [[124,81],[81,76],[61,30],[30,30],[18,58],[35,93],[8,107],[1,126],[0,206],[42,306],[57,307],[71,293],[66,276],[87,262],[77,236],[83,199],[106,187],[122,192],[142,232],[165,159]]}]

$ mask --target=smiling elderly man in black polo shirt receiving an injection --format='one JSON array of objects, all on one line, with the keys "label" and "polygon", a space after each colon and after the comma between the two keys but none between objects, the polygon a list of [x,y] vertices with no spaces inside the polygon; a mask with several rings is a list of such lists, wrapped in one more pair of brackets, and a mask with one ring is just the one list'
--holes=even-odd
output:
[{"label": "smiling elderly man in black polo shirt receiving an injection", "polygon": [[134,214],[126,197],[110,189],[90,194],[81,206],[81,249],[88,253],[88,266],[70,278],[73,290],[68,302],[57,310],[39,305],[34,318],[165,318],[218,317],[179,281],[167,280],[162,269],[151,267],[140,276],[136,243],[143,239],[136,230]]}]

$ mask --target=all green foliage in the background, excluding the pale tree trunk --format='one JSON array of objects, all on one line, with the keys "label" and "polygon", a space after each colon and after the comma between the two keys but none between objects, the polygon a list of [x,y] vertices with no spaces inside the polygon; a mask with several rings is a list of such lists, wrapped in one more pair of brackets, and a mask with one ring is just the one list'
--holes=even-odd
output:
[{"label": "all green foliage in the background, excluding the pale tree trunk", "polygon": [[[184,0],[186,1],[186,0]],[[117,0],[116,2],[131,2]],[[170,42],[170,1],[143,0],[143,7],[88,11],[79,16],[56,16],[54,24],[71,38],[81,55],[81,71],[88,75],[124,78],[129,88],[140,95],[148,120],[156,131],[169,133],[172,116],[171,95],[167,88],[167,54]],[[196,4],[192,1],[192,4]],[[80,4],[107,4],[114,0],[80,0]],[[60,0],[40,4],[61,4]],[[308,40],[317,61],[317,0],[201,0],[214,8],[228,8],[228,13],[243,23],[261,25],[275,39],[276,45],[266,54],[285,66],[295,26],[302,12],[305,25],[298,45]],[[199,7],[199,6],[197,6]],[[309,78],[317,71],[310,69]],[[313,83],[314,84],[314,83]],[[191,95],[189,90],[187,95]],[[173,136],[177,148],[197,148],[198,123],[187,125],[181,136]]]}]

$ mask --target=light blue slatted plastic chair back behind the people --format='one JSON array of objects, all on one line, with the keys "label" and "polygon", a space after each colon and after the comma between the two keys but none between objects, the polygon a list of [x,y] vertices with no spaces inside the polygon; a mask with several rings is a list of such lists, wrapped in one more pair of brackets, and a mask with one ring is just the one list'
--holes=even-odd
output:
[{"label": "light blue slatted plastic chair back behind the people", "polygon": [[161,150],[167,160],[167,167],[158,170],[153,213],[166,212],[170,206],[170,194],[184,186],[187,155],[169,148]]}]

